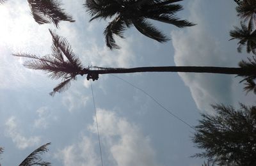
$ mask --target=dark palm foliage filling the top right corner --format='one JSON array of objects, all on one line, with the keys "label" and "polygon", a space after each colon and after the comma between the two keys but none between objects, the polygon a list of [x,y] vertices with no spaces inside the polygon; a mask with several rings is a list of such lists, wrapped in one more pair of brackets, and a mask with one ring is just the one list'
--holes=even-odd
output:
[{"label": "dark palm foliage filling the top right corner", "polygon": [[[253,27],[256,26],[256,1],[255,0],[243,0],[239,1],[239,6],[236,7],[237,15],[244,21],[249,20],[248,29],[253,31]],[[255,29],[254,29],[255,30]]]}]

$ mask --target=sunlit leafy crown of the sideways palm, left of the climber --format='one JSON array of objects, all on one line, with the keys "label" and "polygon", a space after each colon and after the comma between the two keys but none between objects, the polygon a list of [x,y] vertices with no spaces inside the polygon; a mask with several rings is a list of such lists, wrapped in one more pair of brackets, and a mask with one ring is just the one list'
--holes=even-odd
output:
[{"label": "sunlit leafy crown of the sideways palm, left of the climber", "polygon": [[49,30],[52,35],[52,54],[38,57],[32,54],[13,54],[18,57],[28,57],[31,61],[26,61],[24,66],[33,70],[43,70],[49,73],[51,79],[63,79],[58,86],[50,93],[61,92],[70,85],[70,80],[76,80],[76,75],[83,70],[81,61],[74,55],[70,45],[65,38],[58,36]]}]

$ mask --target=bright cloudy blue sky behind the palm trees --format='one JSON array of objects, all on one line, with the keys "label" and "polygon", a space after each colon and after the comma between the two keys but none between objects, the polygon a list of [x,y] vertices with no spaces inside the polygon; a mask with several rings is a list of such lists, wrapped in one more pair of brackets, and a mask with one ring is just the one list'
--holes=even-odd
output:
[{"label": "bright cloudy blue sky behind the palm trees", "polygon": [[[109,50],[104,43],[102,33],[108,20],[89,22],[82,0],[61,2],[76,22],[61,22],[60,29],[38,25],[26,1],[9,0],[0,6],[2,165],[18,165],[47,142],[52,144],[44,158],[52,165],[101,165],[90,82],[79,76],[67,91],[52,97],[49,92],[61,80],[24,68],[26,60],[11,55],[51,54],[48,29],[67,38],[84,67],[236,67],[251,56],[245,51],[237,53],[237,41],[228,41],[229,31],[239,25],[236,3],[231,0],[182,1],[184,10],[179,17],[196,26],[179,29],[152,21],[172,39],[166,43],[131,27],[125,31],[125,39],[116,38],[120,50]],[[252,105],[253,94],[244,93],[240,80],[234,75],[202,73],[100,75],[92,87],[103,164],[202,165],[206,159],[190,157],[201,151],[191,142],[195,131],[166,110],[195,126],[200,113],[214,113],[212,104]]]}]

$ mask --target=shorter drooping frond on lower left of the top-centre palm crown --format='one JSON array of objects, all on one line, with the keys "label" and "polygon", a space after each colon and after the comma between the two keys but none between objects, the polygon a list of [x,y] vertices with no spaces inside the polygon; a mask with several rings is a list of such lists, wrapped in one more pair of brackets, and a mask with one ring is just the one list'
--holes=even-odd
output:
[{"label": "shorter drooping frond on lower left of the top-centre palm crown", "polygon": [[122,20],[122,17],[116,17],[115,20],[109,22],[108,26],[104,30],[104,36],[106,38],[106,45],[109,49],[120,49],[120,47],[116,44],[114,39],[114,34],[124,38],[123,33],[125,31],[125,22]]}]

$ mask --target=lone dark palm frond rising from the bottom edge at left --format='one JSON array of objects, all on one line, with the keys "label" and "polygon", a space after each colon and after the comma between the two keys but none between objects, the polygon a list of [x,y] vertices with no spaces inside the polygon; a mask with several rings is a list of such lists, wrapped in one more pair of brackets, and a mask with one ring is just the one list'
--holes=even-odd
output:
[{"label": "lone dark palm frond rising from the bottom edge at left", "polygon": [[33,151],[30,155],[28,155],[25,160],[23,160],[22,163],[20,163],[19,166],[28,166],[28,165],[44,165],[48,166],[51,165],[50,162],[44,162],[40,155],[44,154],[45,152],[49,151],[47,149],[47,146],[49,146],[51,143],[44,144],[43,146],[38,147]]}]

